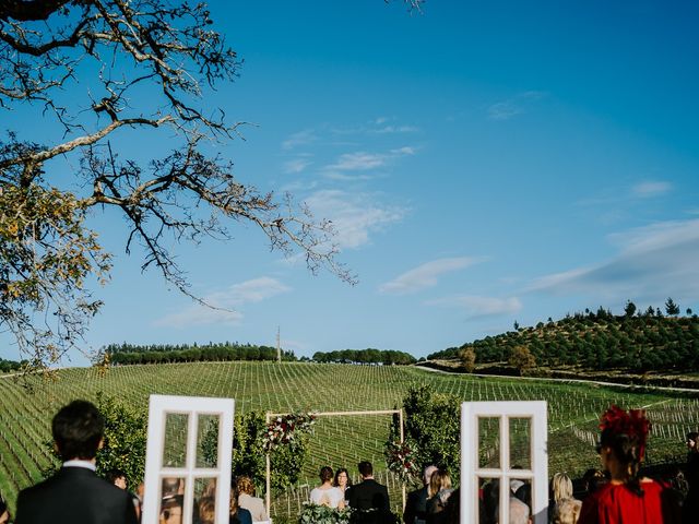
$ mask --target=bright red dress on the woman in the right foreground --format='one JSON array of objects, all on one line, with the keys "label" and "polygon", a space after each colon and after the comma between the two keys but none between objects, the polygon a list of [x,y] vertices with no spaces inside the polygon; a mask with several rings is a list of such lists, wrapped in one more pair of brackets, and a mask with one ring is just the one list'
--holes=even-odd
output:
[{"label": "bright red dress on the woman in the right foreground", "polygon": [[625,484],[608,483],[590,495],[578,524],[668,524],[679,522],[674,493],[655,480],[642,481],[639,497]]}]

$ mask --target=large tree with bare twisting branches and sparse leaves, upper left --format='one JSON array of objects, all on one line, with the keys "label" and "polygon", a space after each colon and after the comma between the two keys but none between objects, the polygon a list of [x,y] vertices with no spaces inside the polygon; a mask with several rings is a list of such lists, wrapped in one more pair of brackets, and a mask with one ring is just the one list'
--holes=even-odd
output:
[{"label": "large tree with bare twisting branches and sparse leaves, upper left", "polygon": [[[312,272],[354,282],[335,260],[329,221],[240,181],[205,145],[240,136],[244,124],[202,103],[240,67],[212,27],[203,2],[0,2],[0,112],[36,109],[31,128],[43,128],[40,140],[8,126],[0,138],[0,327],[35,365],[76,347],[102,306],[86,286],[107,281],[111,258],[86,225],[93,210],[116,210],[126,252],[140,246],[142,270],[200,302],[171,247],[229,239],[234,222],[300,253]],[[171,148],[143,160],[122,140],[139,131]]]}]

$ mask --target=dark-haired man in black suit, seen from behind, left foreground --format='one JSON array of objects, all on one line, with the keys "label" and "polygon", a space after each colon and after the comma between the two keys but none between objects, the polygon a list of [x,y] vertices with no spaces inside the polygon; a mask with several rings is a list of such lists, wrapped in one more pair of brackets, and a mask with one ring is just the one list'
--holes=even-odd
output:
[{"label": "dark-haired man in black suit, seen from behind, left foreground", "polygon": [[95,474],[105,421],[97,408],[73,401],[54,417],[51,431],[63,466],[51,478],[24,489],[15,524],[137,524],[129,493]]}]

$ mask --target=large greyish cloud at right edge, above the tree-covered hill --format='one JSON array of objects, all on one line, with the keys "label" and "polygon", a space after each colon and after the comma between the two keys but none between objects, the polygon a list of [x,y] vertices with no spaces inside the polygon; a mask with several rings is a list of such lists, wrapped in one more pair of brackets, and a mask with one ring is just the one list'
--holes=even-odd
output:
[{"label": "large greyish cloud at right edge, above the tree-covered hill", "polygon": [[609,236],[618,254],[589,267],[535,279],[530,291],[591,295],[606,300],[699,297],[699,219],[653,224]]}]

